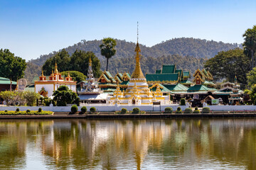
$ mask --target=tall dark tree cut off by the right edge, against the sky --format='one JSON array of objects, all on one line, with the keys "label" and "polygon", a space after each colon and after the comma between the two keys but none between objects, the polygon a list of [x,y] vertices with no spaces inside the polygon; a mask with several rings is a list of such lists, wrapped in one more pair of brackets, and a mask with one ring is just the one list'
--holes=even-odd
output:
[{"label": "tall dark tree cut off by the right edge, against the sky", "polygon": [[252,69],[256,66],[256,26],[253,26],[252,29],[247,29],[242,36],[245,38],[245,42],[242,44],[242,46],[245,49],[245,55],[250,57]]}]

